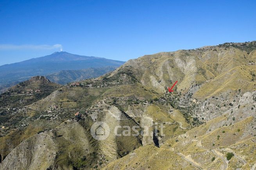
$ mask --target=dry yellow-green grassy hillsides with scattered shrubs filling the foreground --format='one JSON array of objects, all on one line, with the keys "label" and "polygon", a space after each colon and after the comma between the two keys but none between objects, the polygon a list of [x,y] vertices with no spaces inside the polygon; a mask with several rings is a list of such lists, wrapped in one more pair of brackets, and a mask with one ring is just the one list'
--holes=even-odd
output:
[{"label": "dry yellow-green grassy hillsides with scattered shrubs filling the foreground", "polygon": [[[255,63],[255,41],[225,43],[142,56],[61,86],[21,106],[9,121],[16,128],[1,130],[0,170],[253,170]],[[108,124],[105,140],[91,136],[95,122]],[[122,135],[127,126],[138,135]]]}]

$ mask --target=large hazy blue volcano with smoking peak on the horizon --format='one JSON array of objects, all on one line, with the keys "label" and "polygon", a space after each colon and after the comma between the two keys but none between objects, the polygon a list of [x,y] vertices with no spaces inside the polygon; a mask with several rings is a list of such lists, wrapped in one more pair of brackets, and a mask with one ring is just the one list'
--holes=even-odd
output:
[{"label": "large hazy blue volcano with smoking peak on the horizon", "polygon": [[0,66],[0,90],[36,75],[49,75],[62,70],[81,70],[108,66],[119,67],[124,63],[124,61],[80,56],[63,51],[55,52],[48,56]]}]

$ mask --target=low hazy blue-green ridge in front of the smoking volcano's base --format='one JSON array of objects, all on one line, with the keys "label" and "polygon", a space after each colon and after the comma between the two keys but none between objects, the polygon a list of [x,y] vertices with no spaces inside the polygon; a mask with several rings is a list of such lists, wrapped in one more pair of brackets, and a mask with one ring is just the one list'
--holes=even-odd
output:
[{"label": "low hazy blue-green ridge in front of the smoking volcano's base", "polygon": [[99,77],[115,70],[117,67],[100,67],[100,68],[86,68],[82,70],[63,70],[54,74],[47,75],[50,81],[58,84],[66,84],[72,81],[81,81],[84,79]]}]

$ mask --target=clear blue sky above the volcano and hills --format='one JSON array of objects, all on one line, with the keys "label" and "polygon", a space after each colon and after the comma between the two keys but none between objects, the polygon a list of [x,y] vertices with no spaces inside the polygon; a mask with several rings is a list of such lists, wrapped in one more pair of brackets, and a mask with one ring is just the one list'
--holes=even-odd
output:
[{"label": "clear blue sky above the volcano and hills", "polygon": [[255,7],[255,0],[0,0],[0,65],[61,48],[127,61],[252,41]]}]

